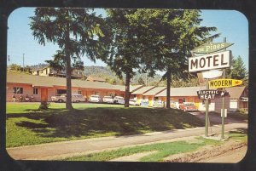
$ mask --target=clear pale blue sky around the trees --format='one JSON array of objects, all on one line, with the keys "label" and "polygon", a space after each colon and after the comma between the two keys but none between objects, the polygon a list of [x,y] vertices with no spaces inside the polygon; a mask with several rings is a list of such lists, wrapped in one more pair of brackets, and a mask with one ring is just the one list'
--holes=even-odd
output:
[{"label": "clear pale blue sky around the trees", "polygon": [[[102,9],[97,9],[102,13]],[[34,8],[15,9],[8,19],[8,49],[9,64],[23,66],[23,55],[25,66],[45,63],[44,60],[52,60],[53,54],[58,50],[58,46],[53,43],[40,45],[32,36],[30,30],[30,16],[34,15]],[[245,15],[236,10],[201,10],[201,26],[215,26],[221,33],[220,37],[214,39],[214,43],[222,43],[224,37],[227,43],[234,43],[228,50],[233,56],[238,55],[248,68],[248,22]],[[96,63],[83,58],[85,66],[106,66],[101,60]]]}]

